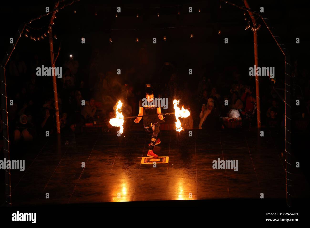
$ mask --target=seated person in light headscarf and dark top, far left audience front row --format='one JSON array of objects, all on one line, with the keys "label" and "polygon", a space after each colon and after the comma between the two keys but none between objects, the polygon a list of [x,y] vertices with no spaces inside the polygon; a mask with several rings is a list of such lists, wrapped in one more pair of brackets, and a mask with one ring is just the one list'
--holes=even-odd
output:
[{"label": "seated person in light headscarf and dark top, far left audience front row", "polygon": [[[14,141],[18,142],[23,140],[24,142],[29,142],[33,140],[33,129],[27,124],[28,118],[25,114],[20,115],[20,123],[17,124],[14,131]],[[32,134],[31,134],[31,133]]]}]

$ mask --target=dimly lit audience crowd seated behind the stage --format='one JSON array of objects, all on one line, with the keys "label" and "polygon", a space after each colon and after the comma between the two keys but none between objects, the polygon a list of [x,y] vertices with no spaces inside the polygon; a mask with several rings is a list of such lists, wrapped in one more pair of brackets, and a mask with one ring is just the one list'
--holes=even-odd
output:
[{"label": "dimly lit audience crowd seated behind the stage", "polygon": [[[57,96],[60,128],[64,134],[81,132],[85,123],[93,121],[102,123],[104,130],[109,131],[112,128],[109,119],[114,118],[113,106],[118,99],[124,101],[124,116],[138,114],[138,102],[145,95],[145,84],[152,85],[155,97],[168,98],[168,109],[173,107],[172,100],[177,97],[181,99],[181,105],[191,110],[191,116],[182,120],[184,129],[225,128],[221,117],[228,117],[231,109],[238,110],[240,126],[255,127],[257,124],[255,78],[241,75],[236,67],[212,74],[200,69],[196,75],[188,75],[188,71],[171,62],[163,62],[159,73],[146,76],[147,66],[142,62],[124,69],[121,77],[117,70],[101,70],[100,61],[94,57],[97,55],[98,51],[94,51],[87,69],[83,69],[74,56],[68,56],[66,61],[56,65],[63,67],[62,77],[57,78]],[[7,65],[9,134],[15,145],[45,136],[47,131],[50,135],[56,133],[52,79],[36,74],[37,67],[48,64],[49,60],[37,54],[25,61],[15,52]],[[294,93],[300,105],[292,114],[295,119],[309,119],[309,72],[306,68],[297,69],[296,61],[293,74],[297,90]],[[284,103],[278,95],[283,96],[283,90],[279,89],[281,86],[275,88],[268,77],[261,80],[262,127],[281,130],[284,127]],[[1,125],[1,131],[2,128]]]}]

